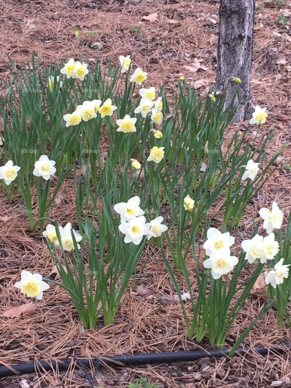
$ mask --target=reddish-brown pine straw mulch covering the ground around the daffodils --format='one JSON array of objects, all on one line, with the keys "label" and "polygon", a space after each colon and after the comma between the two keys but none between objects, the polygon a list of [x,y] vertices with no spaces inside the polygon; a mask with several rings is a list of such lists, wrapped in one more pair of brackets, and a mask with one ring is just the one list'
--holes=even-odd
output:
[{"label": "reddish-brown pine straw mulch covering the ground around the daffodils", "polygon": [[[252,126],[248,137],[253,139],[253,131],[256,131],[260,139],[273,124],[274,138],[272,147],[267,149],[267,158],[271,158],[282,146],[289,147],[281,152],[281,161],[286,158],[285,164],[279,166],[263,186],[247,207],[241,227],[232,233],[236,236],[236,248],[251,233],[251,212],[257,217],[258,209],[270,206],[274,200],[279,204],[284,200],[285,216],[291,207],[291,170],[288,166],[291,158],[291,48],[288,29],[277,22],[280,13],[288,14],[290,5],[291,2],[286,1],[280,8],[269,1],[262,10],[256,11],[252,91],[254,103],[267,106],[269,116],[268,123],[262,128]],[[0,73],[5,79],[9,77],[7,54],[17,65],[30,61],[32,50],[40,54],[44,65],[61,57],[76,59],[78,44],[73,28],[78,28],[83,55],[86,54],[93,64],[97,55],[102,66],[106,67],[108,57],[117,63],[119,55],[131,54],[133,64],[149,72],[149,82],[152,85],[163,83],[165,91],[180,75],[184,75],[187,81],[203,80],[208,86],[215,80],[218,26],[207,21],[207,17],[218,21],[218,7],[217,0],[155,3],[146,0],[54,0],[50,3],[22,0],[16,9],[15,2],[3,1],[0,4],[0,22],[5,31],[2,32],[0,47]],[[157,21],[141,20],[152,13],[158,14]],[[98,45],[92,48],[95,42]],[[194,58],[201,60],[208,70],[188,71],[184,65],[191,66]],[[275,64],[277,59],[281,60],[281,64]],[[244,129],[245,125],[232,126],[226,134],[226,141],[235,128]],[[39,233],[29,232],[21,198],[15,195],[12,204],[9,204],[3,191],[0,195],[0,295],[3,301],[0,312],[3,313],[10,307],[27,302],[25,296],[13,287],[21,270],[33,270],[49,276],[54,265]],[[72,178],[68,178],[66,185],[61,187],[59,198],[60,201],[52,207],[51,217],[62,224],[68,221],[76,223]],[[211,211],[216,210],[213,208]],[[219,227],[220,216],[215,217],[213,226]],[[198,245],[202,242],[197,241]],[[113,325],[103,327],[100,320],[95,329],[83,331],[68,294],[57,286],[51,286],[43,300],[37,302],[34,315],[18,319],[1,318],[1,362],[16,364],[35,358],[60,359],[73,354],[88,357],[92,354],[209,348],[206,340],[200,344],[187,340],[182,309],[174,298],[175,289],[162,257],[153,247],[148,249],[151,250],[151,260],[139,284],[144,284],[152,293],[147,297],[139,296],[132,290],[131,283]],[[189,268],[193,268],[190,256]],[[248,270],[245,270],[242,280],[248,275]],[[179,284],[182,290],[187,291],[182,277]],[[195,291],[193,271],[192,284]],[[250,294],[225,345],[234,343],[238,334],[257,316],[265,301],[264,290]],[[290,329],[286,327],[279,331],[276,312],[270,310],[257,322],[244,343],[270,346],[289,338]],[[148,376],[151,382],[157,382],[161,387],[265,387],[278,379],[284,381],[281,386],[291,386],[288,353],[262,357],[251,351],[245,357],[231,360],[202,359],[184,364],[121,367],[116,371],[102,369],[97,374],[96,386],[127,387],[133,377],[141,376]],[[88,386],[84,372],[74,367],[65,373],[43,372],[39,376],[4,378],[0,384],[3,387],[19,387],[21,379],[26,379],[29,386],[35,388]]]}]

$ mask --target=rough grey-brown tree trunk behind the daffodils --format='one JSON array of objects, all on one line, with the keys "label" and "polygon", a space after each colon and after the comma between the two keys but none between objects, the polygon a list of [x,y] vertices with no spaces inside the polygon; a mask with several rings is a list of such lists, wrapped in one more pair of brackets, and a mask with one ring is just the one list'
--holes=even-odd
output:
[{"label": "rough grey-brown tree trunk behind the daffodils", "polygon": [[[241,79],[241,87],[234,101],[239,101],[234,122],[249,118],[251,103],[251,63],[255,0],[220,0],[217,59],[217,86],[222,90],[229,83],[226,104],[230,103],[237,87],[230,77]],[[230,81],[230,82],[229,82]]]}]

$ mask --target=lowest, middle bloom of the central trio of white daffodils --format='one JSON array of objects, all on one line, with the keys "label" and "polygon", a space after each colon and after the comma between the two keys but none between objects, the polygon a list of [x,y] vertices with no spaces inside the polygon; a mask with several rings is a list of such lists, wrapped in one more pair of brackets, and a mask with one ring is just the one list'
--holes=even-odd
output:
[{"label": "lowest, middle bloom of the central trio of white daffodils", "polygon": [[149,228],[145,226],[145,217],[133,217],[129,222],[121,223],[118,229],[125,234],[124,242],[133,242],[138,245],[142,241],[142,237],[149,234]]}]

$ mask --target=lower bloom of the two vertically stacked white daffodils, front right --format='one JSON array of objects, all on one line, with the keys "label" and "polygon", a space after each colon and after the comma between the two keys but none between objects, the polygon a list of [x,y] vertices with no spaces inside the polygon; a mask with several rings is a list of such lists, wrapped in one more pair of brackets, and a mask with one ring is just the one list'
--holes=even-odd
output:
[{"label": "lower bloom of the two vertically stacked white daffodils, front right", "polygon": [[222,249],[218,253],[211,253],[210,257],[203,262],[203,266],[211,268],[213,279],[219,279],[232,271],[238,262],[236,256],[230,256],[229,250]]}]

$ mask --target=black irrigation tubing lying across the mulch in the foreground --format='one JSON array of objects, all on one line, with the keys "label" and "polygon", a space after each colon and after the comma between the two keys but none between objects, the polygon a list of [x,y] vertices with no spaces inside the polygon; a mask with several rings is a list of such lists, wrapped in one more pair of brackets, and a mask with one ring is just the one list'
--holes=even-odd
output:
[{"label": "black irrigation tubing lying across the mulch in the foreground", "polygon": [[[289,344],[284,344],[290,349]],[[9,367],[0,366],[0,378],[7,376],[15,376],[18,374],[31,374],[42,371],[59,370],[66,371],[69,369],[71,362],[77,363],[82,367],[90,367],[92,365],[99,366],[123,366],[123,365],[145,365],[145,364],[163,364],[164,362],[183,362],[194,361],[204,357],[223,357],[227,356],[231,348],[209,349],[209,350],[188,350],[183,352],[164,352],[164,353],[136,353],[133,355],[120,354],[116,356],[92,357],[90,359],[77,359],[76,357],[67,357],[60,361],[36,361],[24,362],[23,364],[10,365]],[[250,348],[239,347],[234,352],[234,355],[245,355]],[[266,348],[265,346],[256,346],[254,349],[261,355],[268,353],[282,354],[284,348],[273,346]]]}]

